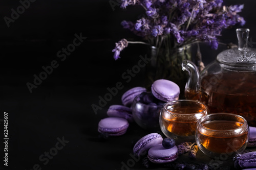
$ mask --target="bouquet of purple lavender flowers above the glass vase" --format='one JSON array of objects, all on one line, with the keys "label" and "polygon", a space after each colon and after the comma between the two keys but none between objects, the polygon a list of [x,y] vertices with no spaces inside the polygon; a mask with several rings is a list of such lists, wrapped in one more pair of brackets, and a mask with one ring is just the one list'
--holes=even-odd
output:
[{"label": "bouquet of purple lavender flowers above the glass vase", "polygon": [[243,5],[222,5],[222,0],[122,0],[121,8],[140,5],[144,14],[135,23],[123,20],[121,25],[147,42],[126,39],[116,43],[114,59],[129,43],[144,43],[157,48],[174,49],[186,44],[208,41],[218,48],[217,37],[221,31],[245,20],[238,13]]}]

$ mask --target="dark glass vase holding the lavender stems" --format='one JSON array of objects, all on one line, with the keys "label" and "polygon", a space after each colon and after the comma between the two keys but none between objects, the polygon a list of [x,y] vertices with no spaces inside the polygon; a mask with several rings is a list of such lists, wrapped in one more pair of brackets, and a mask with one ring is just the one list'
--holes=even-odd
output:
[{"label": "dark glass vase holding the lavender stems", "polygon": [[167,79],[175,82],[180,87],[180,99],[184,99],[184,88],[187,82],[187,71],[183,71],[181,64],[183,60],[191,61],[191,44],[174,48],[150,47],[150,63],[146,66],[146,88],[151,90],[155,80]]}]

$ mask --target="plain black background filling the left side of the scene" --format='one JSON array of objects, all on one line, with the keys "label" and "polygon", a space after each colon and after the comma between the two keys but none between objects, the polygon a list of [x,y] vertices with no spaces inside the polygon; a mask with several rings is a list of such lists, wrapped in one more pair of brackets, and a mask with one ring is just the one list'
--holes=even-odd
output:
[{"label": "plain black background filling the left side of the scene", "polygon": [[[242,3],[244,27],[256,41],[256,3],[228,0],[224,4]],[[115,6],[113,11],[108,0],[37,0],[8,28],[3,18],[11,17],[11,9],[16,11],[18,6],[18,1],[0,2],[0,119],[8,113],[8,169],[33,169],[35,164],[42,169],[121,169],[121,163],[131,159],[132,141],[150,132],[131,124],[125,135],[101,141],[97,126],[110,105],[121,104],[127,89],[144,85],[143,69],[129,83],[121,75],[146,54],[146,47],[129,45],[117,61],[111,52],[122,38],[140,40],[122,29],[120,22],[135,21],[142,9]],[[237,43],[236,28],[223,31],[220,40]],[[61,61],[56,53],[80,33],[87,39]],[[217,51],[203,48],[204,63],[220,51],[221,47]],[[30,93],[26,83],[33,83],[33,75],[38,76],[41,67],[53,60],[59,66]],[[91,105],[98,105],[98,96],[119,81],[124,88],[95,114]],[[2,141],[3,122],[0,127]],[[55,147],[58,137],[69,143],[44,165],[38,158]],[[3,143],[0,147],[0,168],[6,169]],[[136,162],[133,168],[143,166]]]}]

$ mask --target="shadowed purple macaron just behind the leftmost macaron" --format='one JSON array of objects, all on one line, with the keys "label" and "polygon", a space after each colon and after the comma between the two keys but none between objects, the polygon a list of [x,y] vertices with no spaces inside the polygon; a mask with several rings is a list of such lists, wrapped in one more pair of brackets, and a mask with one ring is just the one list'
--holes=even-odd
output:
[{"label": "shadowed purple macaron just behind the leftmost macaron", "polygon": [[122,105],[111,105],[106,112],[110,117],[125,118],[129,122],[133,122],[132,109]]}]

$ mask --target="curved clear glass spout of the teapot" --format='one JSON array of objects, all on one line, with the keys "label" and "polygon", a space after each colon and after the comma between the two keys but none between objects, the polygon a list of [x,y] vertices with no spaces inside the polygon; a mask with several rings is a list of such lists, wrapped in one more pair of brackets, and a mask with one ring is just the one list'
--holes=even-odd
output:
[{"label": "curved clear glass spout of the teapot", "polygon": [[184,60],[182,62],[182,70],[188,71],[189,75],[185,86],[185,98],[202,101],[200,73],[197,66],[189,60]]}]

